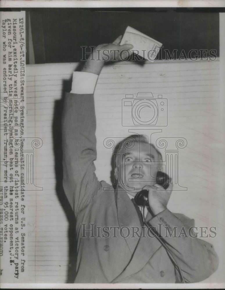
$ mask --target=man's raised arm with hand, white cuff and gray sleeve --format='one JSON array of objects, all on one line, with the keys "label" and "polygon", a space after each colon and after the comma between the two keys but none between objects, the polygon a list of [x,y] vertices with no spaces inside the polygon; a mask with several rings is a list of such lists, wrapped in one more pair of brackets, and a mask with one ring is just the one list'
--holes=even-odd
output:
[{"label": "man's raised arm with hand, white cuff and gray sleeve", "polygon": [[[63,187],[75,215],[85,209],[100,186],[93,163],[96,160],[93,92],[105,61],[121,60],[121,50],[131,48],[129,44],[119,46],[119,42],[120,38],[113,44],[101,44],[95,48],[82,70],[74,73],[71,93],[66,94],[64,99]],[[107,52],[107,50],[109,50],[108,57],[103,57],[103,51]]]}]

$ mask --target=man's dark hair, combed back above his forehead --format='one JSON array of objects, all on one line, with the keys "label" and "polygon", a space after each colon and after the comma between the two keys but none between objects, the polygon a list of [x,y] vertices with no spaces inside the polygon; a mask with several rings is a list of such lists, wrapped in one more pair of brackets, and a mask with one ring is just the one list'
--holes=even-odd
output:
[{"label": "man's dark hair, combed back above his forehead", "polygon": [[[156,148],[156,146],[154,144],[149,142],[148,137],[146,135],[142,135],[142,134],[141,135],[139,135],[139,134],[130,135],[130,136],[124,138],[122,141],[120,141],[114,148],[113,155],[112,155],[112,162],[111,162],[111,165],[112,165],[111,179],[112,179],[112,181],[115,178],[115,170],[117,167],[116,160],[117,160],[118,154],[123,153],[127,149],[134,147],[134,144],[136,142],[145,143],[145,144],[149,144],[150,146],[152,146],[156,150],[156,152],[158,153],[160,162],[163,162],[163,157],[162,157],[161,152]],[[163,171],[162,165],[159,166],[159,171]],[[115,184],[116,182],[112,182],[112,183]]]}]

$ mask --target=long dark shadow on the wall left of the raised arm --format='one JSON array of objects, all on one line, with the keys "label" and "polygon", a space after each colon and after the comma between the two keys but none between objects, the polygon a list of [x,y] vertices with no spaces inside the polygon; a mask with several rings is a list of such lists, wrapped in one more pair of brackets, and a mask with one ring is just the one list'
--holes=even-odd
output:
[{"label": "long dark shadow on the wall left of the raised arm", "polygon": [[77,241],[76,241],[76,219],[73,210],[66,198],[63,190],[62,178],[62,108],[64,93],[71,90],[71,79],[63,82],[62,99],[55,102],[54,117],[53,117],[53,151],[55,155],[55,176],[56,176],[56,193],[60,204],[67,217],[69,228],[68,228],[68,242],[69,252],[68,258],[69,263],[67,266],[67,280],[65,283],[73,283],[76,276],[76,262],[77,262]]}]

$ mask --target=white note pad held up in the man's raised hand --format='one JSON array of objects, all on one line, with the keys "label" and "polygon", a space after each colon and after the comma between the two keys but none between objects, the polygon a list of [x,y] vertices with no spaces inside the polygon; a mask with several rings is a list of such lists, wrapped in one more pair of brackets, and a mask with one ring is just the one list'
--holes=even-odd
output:
[{"label": "white note pad held up in the man's raised hand", "polygon": [[120,41],[120,45],[132,44],[132,52],[140,55],[144,59],[154,61],[162,43],[143,34],[142,32],[127,26],[123,38]]}]

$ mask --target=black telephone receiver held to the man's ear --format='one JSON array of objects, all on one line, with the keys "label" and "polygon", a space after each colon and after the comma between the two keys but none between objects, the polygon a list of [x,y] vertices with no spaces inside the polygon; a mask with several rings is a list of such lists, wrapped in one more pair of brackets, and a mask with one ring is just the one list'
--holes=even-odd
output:
[{"label": "black telephone receiver held to the man's ear", "polygon": [[[162,172],[162,171],[157,172],[157,176],[156,176],[157,184],[163,186],[164,189],[167,189],[169,186],[169,182],[170,182],[170,177],[165,172]],[[134,201],[139,206],[148,206],[148,190],[143,189],[139,191],[135,195]]]}]

